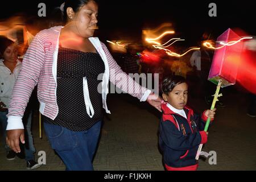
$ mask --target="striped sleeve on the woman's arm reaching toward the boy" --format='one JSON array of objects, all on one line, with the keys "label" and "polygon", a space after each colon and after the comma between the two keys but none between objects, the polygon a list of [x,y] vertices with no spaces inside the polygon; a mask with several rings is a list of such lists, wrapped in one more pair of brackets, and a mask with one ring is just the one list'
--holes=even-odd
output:
[{"label": "striped sleeve on the woman's arm reaching toward the boy", "polygon": [[139,85],[136,81],[133,80],[133,78],[123,72],[110,54],[105,44],[101,42],[101,46],[108,59],[110,81],[123,92],[129,93],[131,96],[137,97],[141,101],[146,101],[148,95],[151,93],[151,90],[148,90],[147,88]]}]

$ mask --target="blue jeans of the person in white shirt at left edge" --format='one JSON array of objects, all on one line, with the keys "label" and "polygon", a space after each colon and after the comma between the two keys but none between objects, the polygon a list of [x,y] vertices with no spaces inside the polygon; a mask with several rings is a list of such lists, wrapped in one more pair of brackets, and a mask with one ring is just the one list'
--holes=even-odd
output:
[{"label": "blue jeans of the person in white shirt at left edge", "polygon": [[[5,140],[5,149],[6,151],[10,151],[11,148],[7,146],[6,144],[6,127],[7,127],[7,117],[6,115],[8,114],[8,110],[5,112],[0,111],[0,121],[2,123],[2,132],[3,132],[3,139]],[[27,115],[26,115],[27,114]],[[25,133],[25,159],[26,160],[35,160],[34,152],[35,152],[35,147],[34,147],[34,142],[33,142],[33,137],[31,134],[31,121],[32,121],[32,110],[28,111],[25,113],[23,117],[23,123],[24,123],[24,133]]]}]

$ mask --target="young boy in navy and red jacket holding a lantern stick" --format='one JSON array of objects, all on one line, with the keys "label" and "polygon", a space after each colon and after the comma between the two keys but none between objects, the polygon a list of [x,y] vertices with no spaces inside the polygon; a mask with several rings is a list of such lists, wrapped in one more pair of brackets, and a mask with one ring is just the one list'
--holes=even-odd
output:
[{"label": "young boy in navy and red jacket holding a lantern stick", "polygon": [[186,106],[188,85],[184,77],[168,76],[162,82],[162,118],[159,126],[159,146],[164,167],[168,171],[195,171],[199,144],[207,142],[203,131],[207,118],[213,121],[215,110],[206,110],[201,118]]}]

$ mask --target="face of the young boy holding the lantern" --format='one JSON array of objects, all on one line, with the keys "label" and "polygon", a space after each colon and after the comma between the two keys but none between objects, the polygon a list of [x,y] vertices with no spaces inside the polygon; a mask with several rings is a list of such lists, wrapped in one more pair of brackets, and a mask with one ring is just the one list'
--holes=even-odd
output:
[{"label": "face of the young boy holding the lantern", "polygon": [[176,85],[168,95],[163,93],[163,100],[176,109],[183,109],[188,101],[188,85],[186,83]]}]

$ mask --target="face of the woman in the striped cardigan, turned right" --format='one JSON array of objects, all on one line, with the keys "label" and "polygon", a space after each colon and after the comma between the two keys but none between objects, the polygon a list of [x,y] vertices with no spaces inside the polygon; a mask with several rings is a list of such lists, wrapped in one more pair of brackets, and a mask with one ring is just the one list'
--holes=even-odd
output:
[{"label": "face of the woman in the striped cardigan, turned right", "polygon": [[80,10],[75,13],[72,22],[75,23],[78,35],[83,38],[93,36],[94,30],[97,27],[98,6],[96,2],[90,1],[86,5],[80,7]]}]

